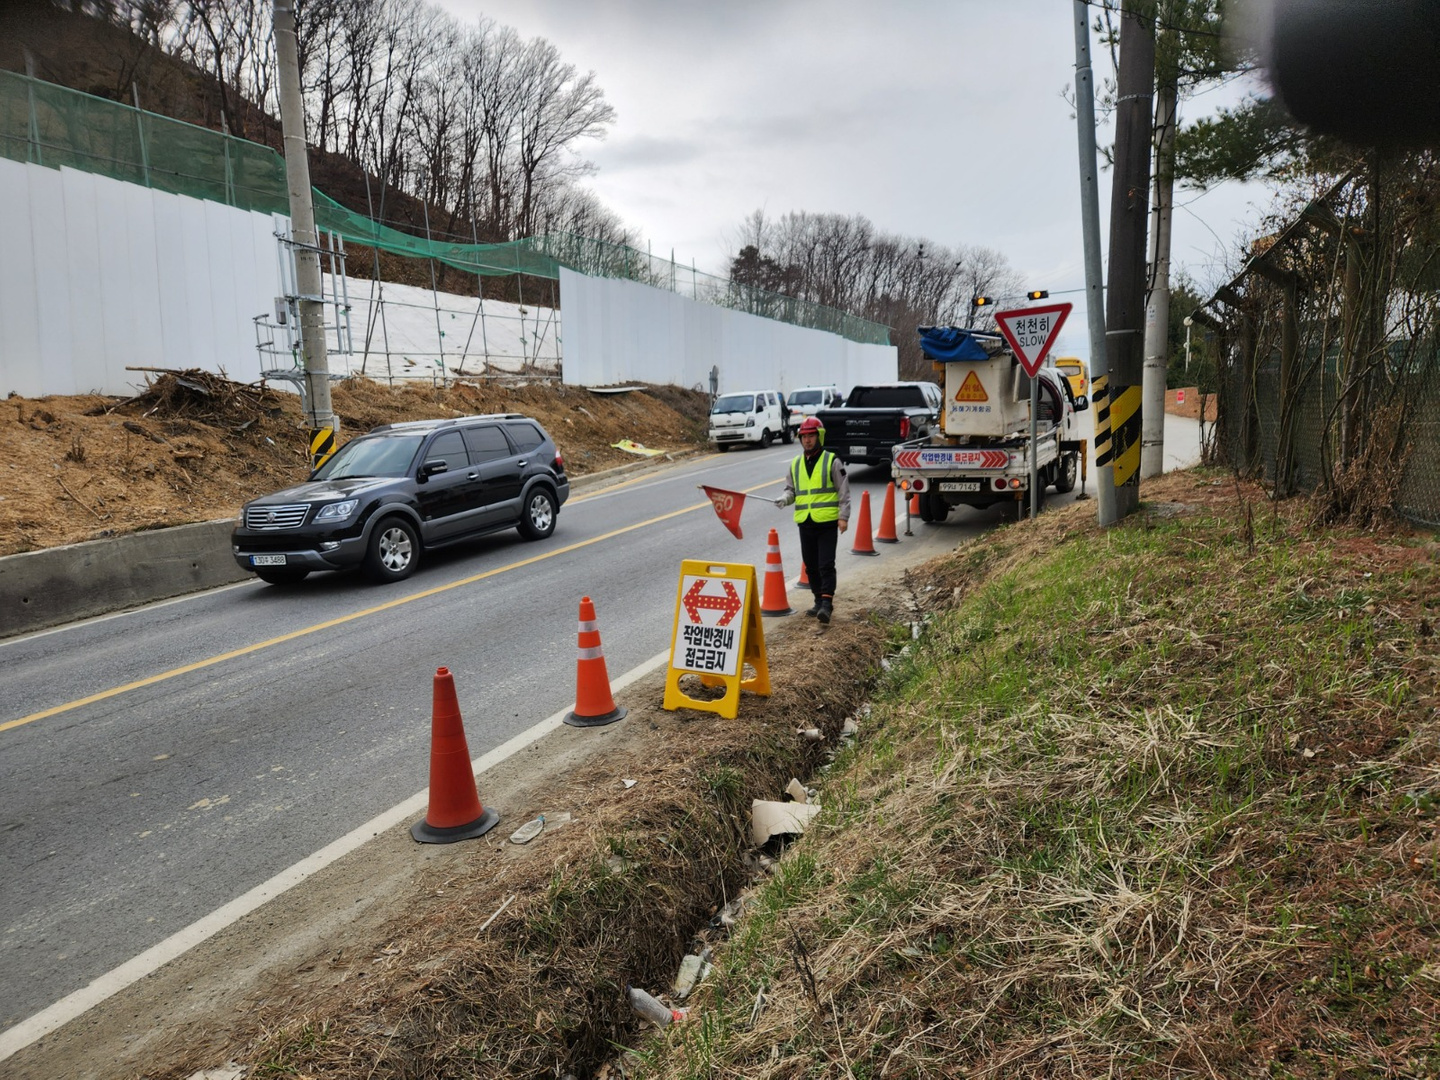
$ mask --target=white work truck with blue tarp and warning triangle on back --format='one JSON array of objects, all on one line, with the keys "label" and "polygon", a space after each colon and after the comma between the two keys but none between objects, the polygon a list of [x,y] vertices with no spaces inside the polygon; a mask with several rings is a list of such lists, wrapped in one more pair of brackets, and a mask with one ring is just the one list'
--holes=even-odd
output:
[{"label": "white work truck with blue tarp and warning triangle on back", "polygon": [[[920,346],[945,370],[939,429],[891,451],[891,475],[906,495],[919,495],[920,520],[943,521],[950,507],[1002,504],[1012,517],[1030,505],[1031,380],[1004,337],[959,327],[920,327]],[[1040,495],[1054,487],[1071,491],[1084,442],[1077,412],[1089,399],[1074,396],[1054,367],[1041,367],[1035,451]]]}]

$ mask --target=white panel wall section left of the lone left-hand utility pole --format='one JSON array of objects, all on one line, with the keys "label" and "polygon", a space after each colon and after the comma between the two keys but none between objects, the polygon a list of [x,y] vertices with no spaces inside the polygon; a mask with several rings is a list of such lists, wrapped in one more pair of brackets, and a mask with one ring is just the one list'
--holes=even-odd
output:
[{"label": "white panel wall section left of the lone left-hand utility pole", "polygon": [[0,397],[134,393],[130,367],[259,377],[269,215],[0,158]]}]

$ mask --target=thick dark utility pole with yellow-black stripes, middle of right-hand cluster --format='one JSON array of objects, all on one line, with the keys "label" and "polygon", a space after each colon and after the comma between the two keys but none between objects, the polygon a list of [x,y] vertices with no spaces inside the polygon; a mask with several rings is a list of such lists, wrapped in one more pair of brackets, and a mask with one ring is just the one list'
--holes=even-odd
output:
[{"label": "thick dark utility pole with yellow-black stripes, middle of right-hand cluster", "polygon": [[1096,435],[1096,462],[1115,469],[1116,518],[1140,504],[1140,383],[1145,359],[1145,225],[1151,189],[1151,104],[1155,95],[1155,23],[1125,0],[1115,109],[1115,183],[1110,189],[1110,274],[1106,289],[1106,361],[1110,438]]}]

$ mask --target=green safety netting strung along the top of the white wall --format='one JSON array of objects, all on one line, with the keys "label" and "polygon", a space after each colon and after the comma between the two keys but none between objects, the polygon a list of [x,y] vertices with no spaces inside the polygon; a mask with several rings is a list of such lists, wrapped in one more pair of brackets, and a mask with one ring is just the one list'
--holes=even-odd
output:
[{"label": "green safety netting strung along the top of the white wall", "polygon": [[[0,71],[0,157],[98,173],[242,210],[289,215],[285,160],[269,147],[7,71]],[[851,341],[890,344],[890,330],[880,323],[675,266],[625,245],[569,233],[511,243],[428,240],[347,210],[321,192],[314,192],[314,204],[315,225],[348,243],[435,259],[467,274],[554,279],[566,266],[590,276],[687,292],[708,304]]]}]

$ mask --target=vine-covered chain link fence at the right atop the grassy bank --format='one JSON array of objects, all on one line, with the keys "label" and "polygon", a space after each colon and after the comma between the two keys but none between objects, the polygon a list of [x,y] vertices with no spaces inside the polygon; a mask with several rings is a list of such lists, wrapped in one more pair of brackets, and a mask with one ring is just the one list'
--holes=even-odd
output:
[{"label": "vine-covered chain link fence at the right atop the grassy bank", "polygon": [[1280,495],[1440,527],[1440,298],[1391,180],[1336,183],[1197,312],[1217,337],[1214,452]]}]

